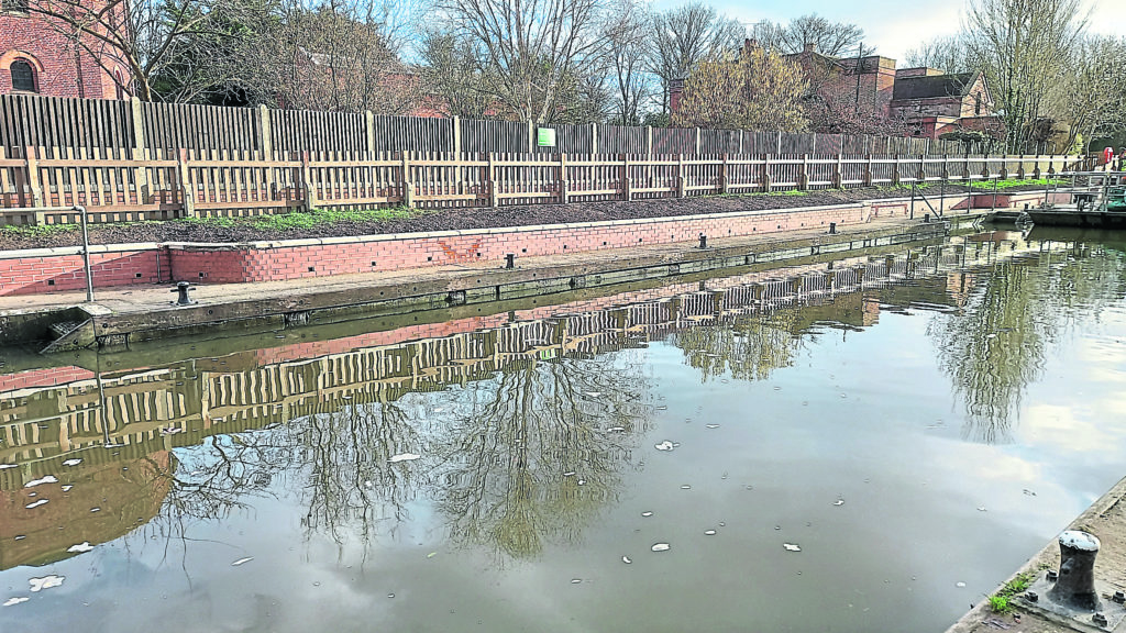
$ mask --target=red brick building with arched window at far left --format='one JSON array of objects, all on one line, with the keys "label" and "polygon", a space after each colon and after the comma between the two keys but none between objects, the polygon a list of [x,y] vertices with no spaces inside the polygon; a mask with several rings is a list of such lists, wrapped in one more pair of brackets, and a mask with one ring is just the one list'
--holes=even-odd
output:
[{"label": "red brick building with arched window at far left", "polygon": [[28,11],[28,0],[0,0],[0,95],[128,97],[127,66],[110,54],[95,57],[48,20]]}]

